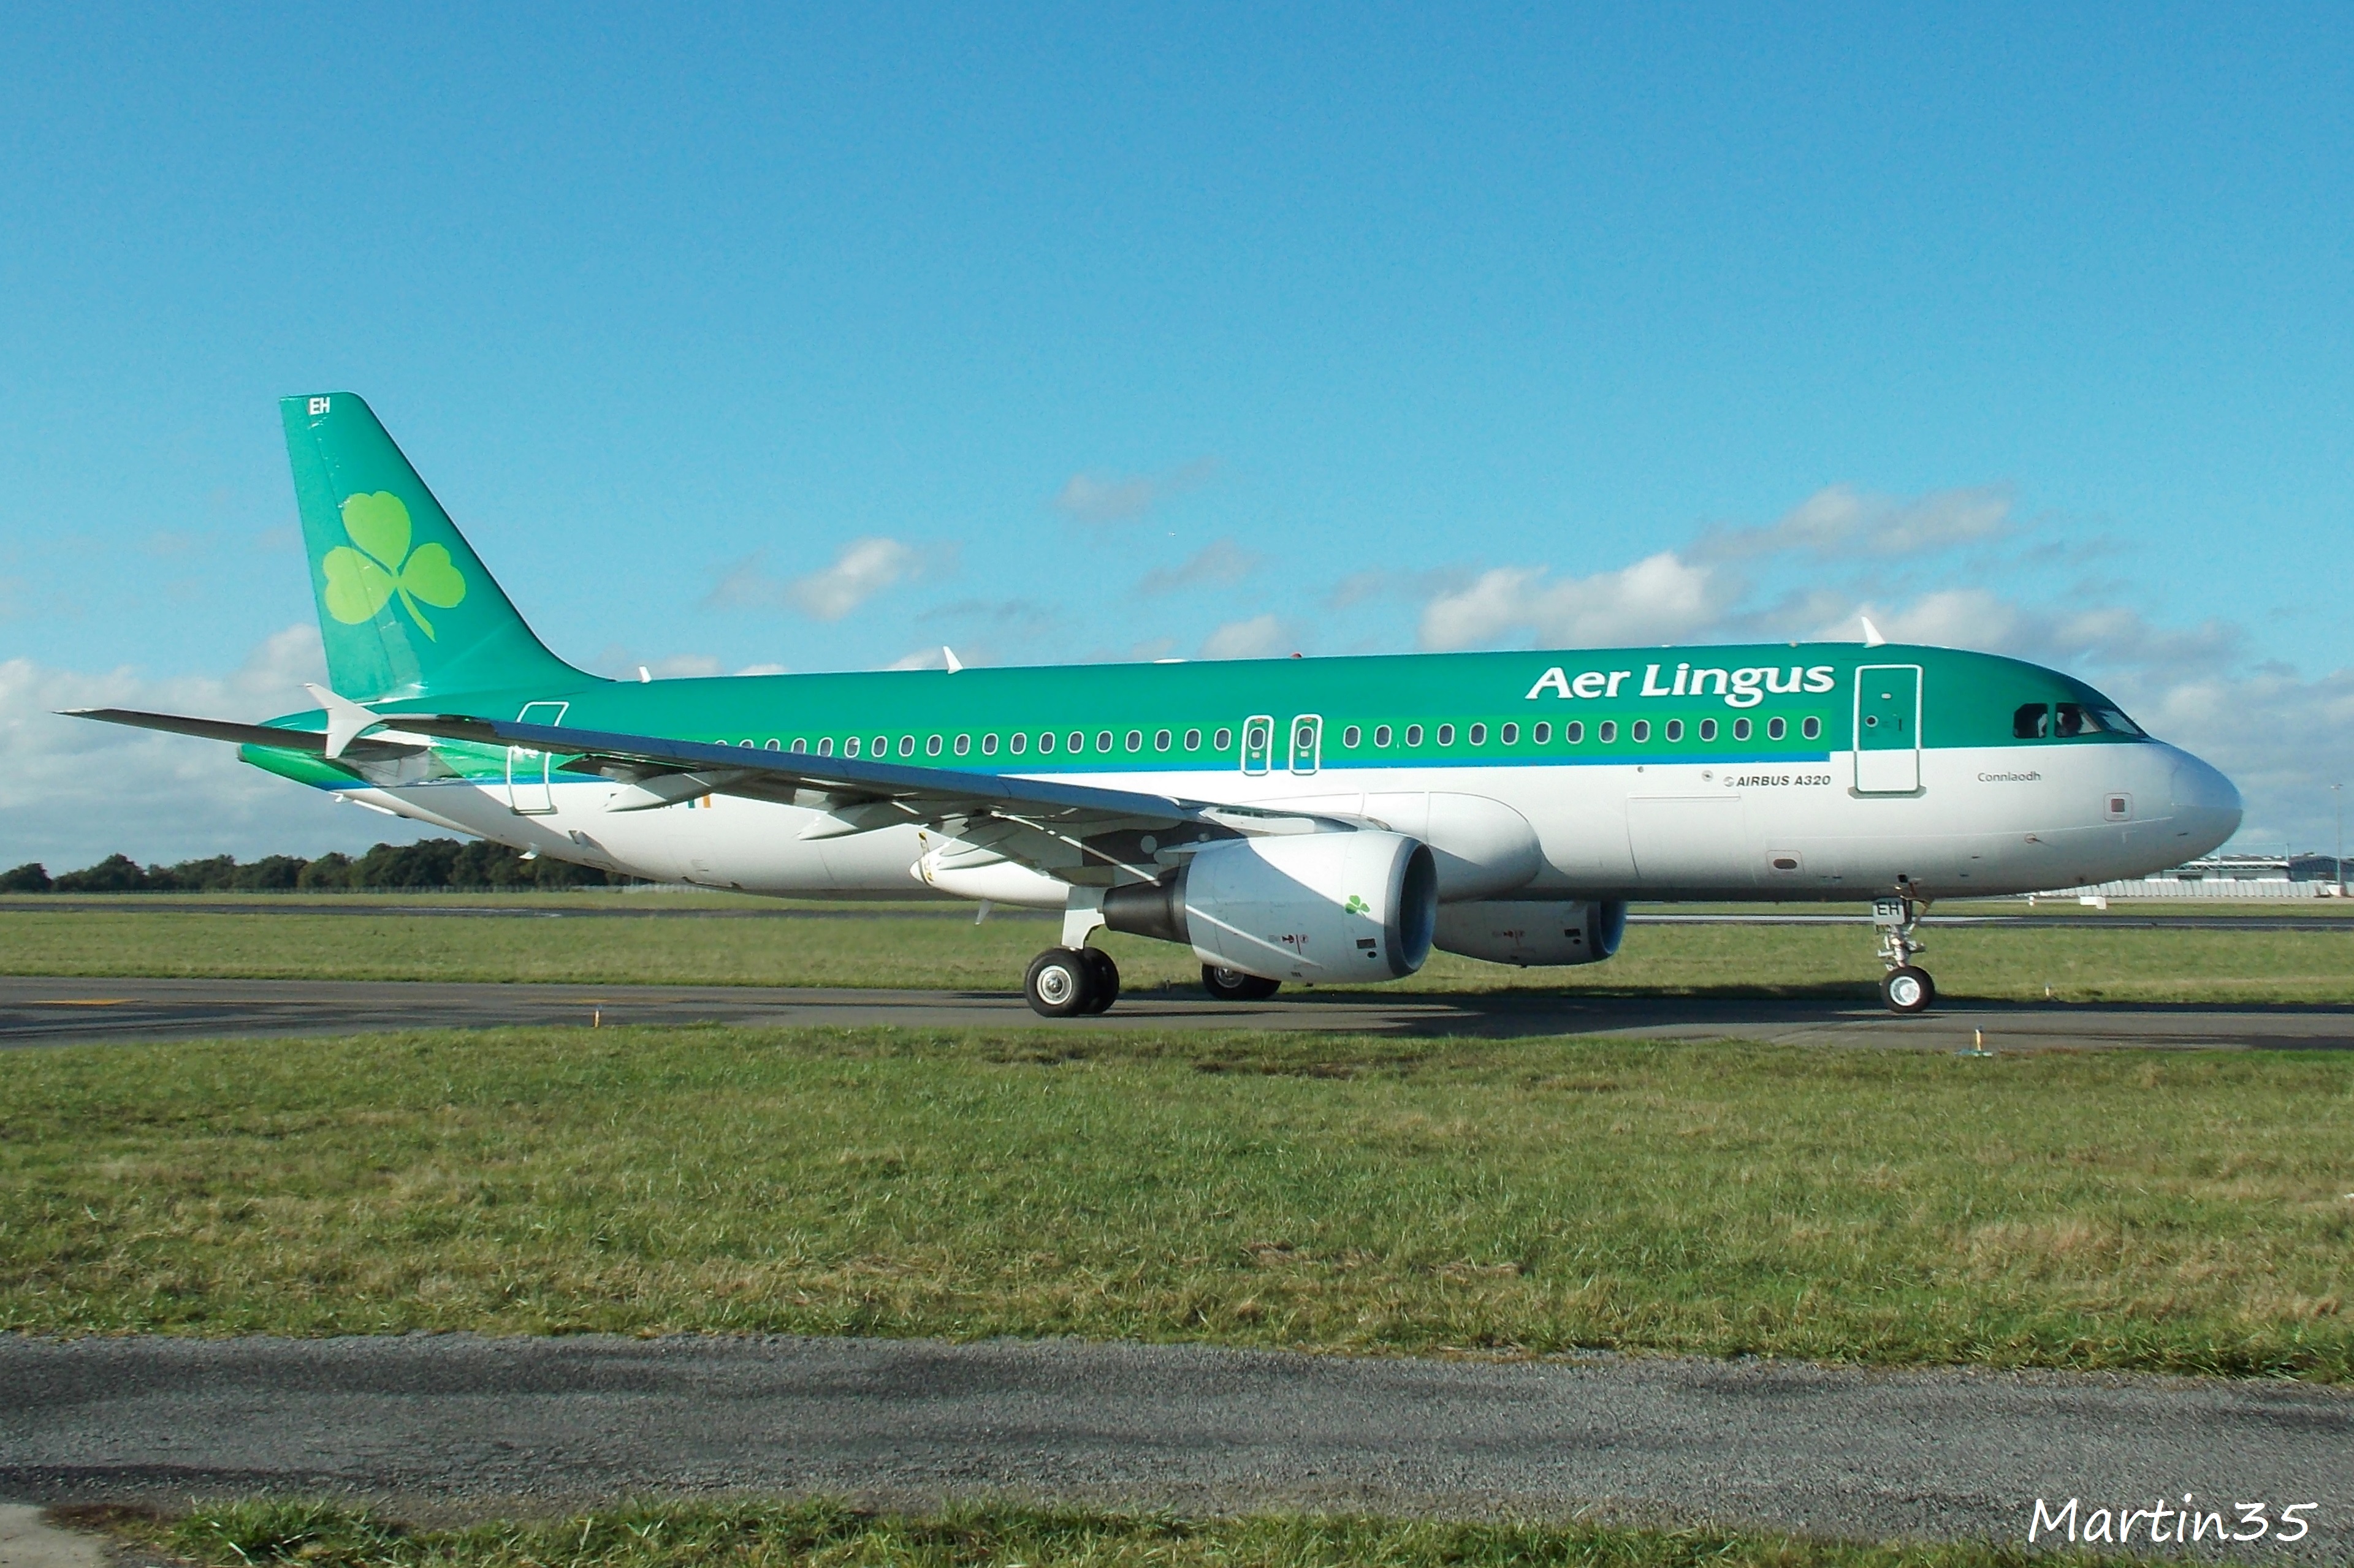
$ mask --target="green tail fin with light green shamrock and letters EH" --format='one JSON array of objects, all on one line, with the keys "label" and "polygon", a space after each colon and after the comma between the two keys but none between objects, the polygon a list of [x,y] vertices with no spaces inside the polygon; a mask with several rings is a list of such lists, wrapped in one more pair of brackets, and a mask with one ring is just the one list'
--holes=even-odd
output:
[{"label": "green tail fin with light green shamrock and letters EH", "polygon": [[591,683],[551,655],[353,393],[280,398],[327,683],[353,702]]}]

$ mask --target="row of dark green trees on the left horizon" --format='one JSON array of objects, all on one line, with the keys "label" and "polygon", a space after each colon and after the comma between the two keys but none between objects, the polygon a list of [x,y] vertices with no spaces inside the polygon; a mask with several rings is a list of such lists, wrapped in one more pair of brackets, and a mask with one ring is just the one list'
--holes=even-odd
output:
[{"label": "row of dark green trees on the left horizon", "polygon": [[0,892],[372,892],[372,890],[466,890],[466,888],[607,888],[633,878],[607,876],[565,859],[525,859],[501,843],[379,843],[367,855],[327,852],[264,855],[238,864],[233,855],[184,859],[174,866],[141,866],[129,855],[108,855],[94,866],[49,876],[40,862],[0,871]]}]

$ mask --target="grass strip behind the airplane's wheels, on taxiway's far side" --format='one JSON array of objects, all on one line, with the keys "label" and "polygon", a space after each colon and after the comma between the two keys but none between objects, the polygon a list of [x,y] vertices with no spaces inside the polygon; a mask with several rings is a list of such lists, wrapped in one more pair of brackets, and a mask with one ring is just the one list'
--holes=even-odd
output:
[{"label": "grass strip behind the airplane's wheels, on taxiway's far side", "polygon": [[[756,899],[636,895],[661,906],[774,909]],[[671,899],[690,899],[671,904]],[[179,899],[174,899],[177,904]],[[523,899],[410,897],[414,906],[523,904],[541,913],[629,909],[619,895]],[[212,909],[238,909],[214,899]],[[275,904],[285,909],[285,902]],[[224,975],[271,979],[572,979],[588,984],[946,986],[1015,991],[1052,921],[984,925],[920,906],[840,906],[774,918],[464,918],[337,899],[344,913],[210,913],[141,897],[99,911],[0,902],[0,970],[12,975]],[[377,913],[384,909],[384,913]],[[2321,909],[2314,902],[2312,909]],[[2312,909],[2298,906],[2298,913]],[[2335,904],[2330,904],[2335,909]],[[360,913],[353,913],[360,911]],[[850,918],[843,918],[850,916]],[[2102,928],[1930,930],[1928,968],[1956,1001],[2354,1003],[2354,921],[2345,932]],[[1125,989],[1198,984],[1165,942],[1109,937]],[[1596,991],[1869,998],[1878,965],[1862,925],[1645,925],[1608,963],[1511,970],[1434,954],[1408,991]]]}]

